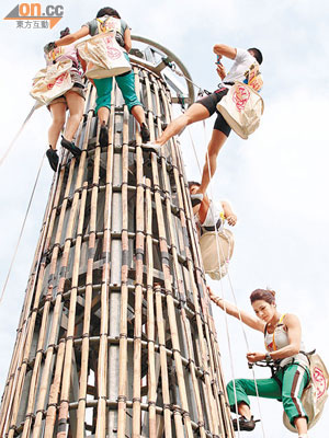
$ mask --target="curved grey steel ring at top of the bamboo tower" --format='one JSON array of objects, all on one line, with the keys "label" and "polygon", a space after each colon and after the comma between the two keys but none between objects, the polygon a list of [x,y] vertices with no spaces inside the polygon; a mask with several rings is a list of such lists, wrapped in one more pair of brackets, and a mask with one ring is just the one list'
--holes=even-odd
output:
[{"label": "curved grey steel ring at top of the bamboo tower", "polygon": [[[139,36],[139,35],[132,35],[132,39],[139,42],[139,43],[148,44],[154,53],[157,53],[158,55],[163,54],[168,57],[167,58],[168,61],[170,61],[170,62],[173,61],[175,64],[175,66],[182,72],[181,76],[185,79],[186,87],[188,87],[188,95],[185,95],[183,97],[189,105],[192,105],[192,103],[195,100],[194,85],[193,85],[191,74],[190,74],[189,70],[186,69],[186,67],[183,65],[183,62],[167,47],[162,46],[159,43],[154,42],[152,39],[149,39],[149,38],[146,38],[146,37]],[[147,59],[135,56],[134,49],[132,49],[129,57],[132,58],[132,60],[134,62],[148,68],[149,70],[156,72],[157,74],[160,74],[161,71],[166,67],[168,67],[168,62],[166,62],[163,59],[158,65],[155,65],[154,62],[148,61]],[[178,73],[178,74],[180,74],[180,73]],[[179,90],[179,87],[177,83],[171,83],[171,84],[173,85],[173,88],[178,92],[178,94],[180,94],[180,93],[182,94],[182,90]]]}]

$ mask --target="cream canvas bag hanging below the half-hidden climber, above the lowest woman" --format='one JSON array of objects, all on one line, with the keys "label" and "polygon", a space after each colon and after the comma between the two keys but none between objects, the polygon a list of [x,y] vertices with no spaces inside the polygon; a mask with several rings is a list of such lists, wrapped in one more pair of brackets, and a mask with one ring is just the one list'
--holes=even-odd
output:
[{"label": "cream canvas bag hanging below the half-hidden climber, above the lowest woman", "polygon": [[[219,257],[217,254],[216,233],[218,233]],[[228,272],[228,262],[234,252],[235,241],[230,230],[207,231],[200,238],[200,249],[204,270],[213,280],[220,280]]]}]

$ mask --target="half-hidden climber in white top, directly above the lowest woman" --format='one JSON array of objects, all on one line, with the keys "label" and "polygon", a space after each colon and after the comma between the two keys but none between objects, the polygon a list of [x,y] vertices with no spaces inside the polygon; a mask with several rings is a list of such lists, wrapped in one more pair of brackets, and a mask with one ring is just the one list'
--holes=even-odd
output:
[{"label": "half-hidden climber in white top, directly above the lowest woman", "polygon": [[[197,194],[198,188],[200,183],[195,181],[189,182],[191,197]],[[213,203],[206,195],[201,196],[198,194],[197,197],[192,199],[192,207],[201,233],[206,231],[220,231],[225,220],[232,227],[237,223],[237,216],[234,214],[227,200]]]}]

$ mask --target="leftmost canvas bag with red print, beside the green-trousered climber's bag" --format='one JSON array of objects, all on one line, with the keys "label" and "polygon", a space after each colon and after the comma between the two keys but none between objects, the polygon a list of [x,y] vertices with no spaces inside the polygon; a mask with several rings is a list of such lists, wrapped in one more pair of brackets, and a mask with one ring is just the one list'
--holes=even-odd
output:
[{"label": "leftmost canvas bag with red print, beside the green-trousered climber's bag", "polygon": [[35,74],[30,92],[33,99],[43,105],[48,105],[54,99],[65,94],[73,87],[70,59],[47,66]]}]

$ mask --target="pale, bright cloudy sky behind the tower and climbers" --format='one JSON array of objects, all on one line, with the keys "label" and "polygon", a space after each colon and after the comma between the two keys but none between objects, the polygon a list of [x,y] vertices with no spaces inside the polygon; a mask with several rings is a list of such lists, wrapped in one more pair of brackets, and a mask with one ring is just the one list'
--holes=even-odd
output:
[{"label": "pale, bright cloudy sky behind the tower and climbers", "polygon": [[[50,4],[42,1],[42,5]],[[1,2],[1,19],[16,5]],[[1,20],[1,145],[0,157],[33,106],[29,95],[35,72],[44,66],[43,46],[58,38],[59,31],[72,32],[94,18],[104,2],[66,0],[64,18],[53,28],[16,28],[15,21]],[[238,216],[234,229],[235,253],[229,278],[222,284],[208,279],[214,291],[241,309],[252,309],[249,295],[256,288],[276,291],[277,309],[297,314],[307,349],[317,348],[329,367],[328,347],[328,99],[329,31],[328,4],[324,0],[127,0],[112,1],[132,27],[173,51],[186,66],[195,83],[215,90],[213,45],[259,47],[264,57],[262,74],[264,115],[260,128],[242,140],[231,134],[217,161],[217,173],[208,194],[231,201]],[[230,61],[224,61],[229,68]],[[50,116],[37,110],[0,168],[0,290],[2,290],[21,226],[47,148]],[[206,141],[214,119],[191,127],[197,161],[203,165]],[[205,141],[206,138],[206,141]],[[189,178],[200,178],[190,136],[181,136]],[[18,256],[0,303],[0,391],[7,378],[15,328],[24,299],[27,276],[36,247],[53,172],[44,162]],[[247,367],[241,325],[214,308],[226,381],[252,378]],[[263,351],[260,333],[245,328],[251,350]],[[231,359],[229,355],[231,347]],[[256,369],[256,376],[268,371]],[[282,424],[282,405],[260,400],[264,428],[253,437],[291,437]],[[258,403],[252,402],[256,417]],[[326,416],[309,437],[328,435]],[[245,436],[246,434],[241,434]]]}]

